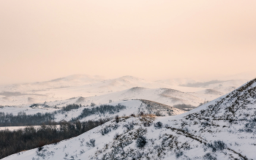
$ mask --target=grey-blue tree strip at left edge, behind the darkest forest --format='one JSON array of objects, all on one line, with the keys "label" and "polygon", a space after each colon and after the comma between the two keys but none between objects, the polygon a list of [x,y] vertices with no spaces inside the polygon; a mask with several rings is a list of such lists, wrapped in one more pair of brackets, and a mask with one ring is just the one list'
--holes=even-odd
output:
[{"label": "grey-blue tree strip at left edge, behind the darkest forest", "polygon": [[34,126],[42,123],[49,124],[54,120],[54,113],[37,113],[26,115],[26,113],[0,113],[0,126]]}]

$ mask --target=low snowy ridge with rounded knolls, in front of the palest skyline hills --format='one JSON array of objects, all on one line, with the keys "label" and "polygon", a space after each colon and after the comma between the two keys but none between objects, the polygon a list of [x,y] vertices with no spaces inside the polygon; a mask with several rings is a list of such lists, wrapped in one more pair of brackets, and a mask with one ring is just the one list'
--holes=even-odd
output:
[{"label": "low snowy ridge with rounded knolls, in front of the palest skyline hills", "polygon": [[[214,98],[217,98],[218,95],[214,95]],[[90,105],[91,103],[95,104],[106,104],[110,100],[113,102],[130,100],[130,99],[147,99],[154,102],[159,102],[162,104],[167,104],[173,106],[174,104],[192,104],[197,106],[198,104],[205,102],[205,99],[200,99],[197,96],[192,95],[191,93],[181,92],[170,88],[129,88],[124,91],[117,91],[110,94],[105,94],[101,96],[89,96],[89,97],[73,97],[71,99],[65,99],[60,101],[53,102],[44,102],[50,107],[64,107],[67,104],[82,104]],[[40,103],[39,103],[40,104]],[[42,103],[41,103],[42,104]],[[31,104],[20,104],[15,107],[24,107],[27,108]],[[49,109],[49,108],[48,108]]]}]

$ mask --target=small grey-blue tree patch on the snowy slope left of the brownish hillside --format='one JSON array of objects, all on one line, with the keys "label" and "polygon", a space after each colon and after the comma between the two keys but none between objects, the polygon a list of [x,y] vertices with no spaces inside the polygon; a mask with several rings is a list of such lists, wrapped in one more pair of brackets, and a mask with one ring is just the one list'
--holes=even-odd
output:
[{"label": "small grey-blue tree patch on the snowy slope left of the brownish hillside", "polygon": [[76,121],[77,119],[82,119],[90,115],[99,115],[103,114],[105,115],[106,113],[108,114],[115,114],[120,112],[120,110],[126,109],[126,106],[118,104],[116,106],[113,105],[100,105],[99,107],[93,107],[93,108],[85,108],[83,109],[83,112],[78,116],[78,118],[72,119],[72,121]]}]

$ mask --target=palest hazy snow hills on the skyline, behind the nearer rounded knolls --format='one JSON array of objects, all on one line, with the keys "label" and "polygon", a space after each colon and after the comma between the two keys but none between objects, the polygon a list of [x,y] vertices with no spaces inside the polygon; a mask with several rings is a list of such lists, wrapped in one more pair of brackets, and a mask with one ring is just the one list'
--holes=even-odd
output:
[{"label": "palest hazy snow hills on the skyline, behind the nearer rounded knolls", "polygon": [[[56,100],[60,101],[78,96],[102,96],[105,94],[116,92],[121,93],[121,91],[125,91],[127,89],[135,87],[149,89],[170,88],[170,90],[181,91],[184,92],[184,94],[189,94],[189,96],[196,96],[196,99],[203,99],[203,101],[209,101],[216,99],[219,95],[224,95],[230,91],[233,91],[233,89],[237,88],[243,83],[246,83],[246,80],[226,80],[219,81],[219,83],[201,82],[204,85],[195,85],[197,87],[191,87],[193,86],[193,84],[198,83],[200,84],[199,81],[190,79],[148,81],[140,79],[138,77],[124,76],[115,79],[104,80],[98,76],[72,75],[41,83],[26,83],[1,86],[0,105],[13,106],[20,104],[54,102]],[[187,84],[190,85],[187,86]],[[165,96],[166,99],[168,95],[162,96]],[[176,98],[177,97],[169,97],[169,102],[173,101]],[[139,99],[139,97],[133,96],[133,99]],[[178,98],[176,99],[176,102],[184,102],[186,104],[192,105],[197,105],[200,103],[195,102],[194,99],[188,101],[186,99],[189,99],[189,97],[185,99]],[[155,99],[148,100],[154,101]],[[162,103],[165,102],[167,101],[164,100]],[[170,105],[172,103],[167,104]]]}]

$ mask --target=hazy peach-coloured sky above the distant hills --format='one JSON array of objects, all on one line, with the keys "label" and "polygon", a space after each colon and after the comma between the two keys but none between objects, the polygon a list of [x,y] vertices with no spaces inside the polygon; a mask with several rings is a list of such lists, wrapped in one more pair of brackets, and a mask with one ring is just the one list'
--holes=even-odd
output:
[{"label": "hazy peach-coloured sky above the distant hills", "polygon": [[0,84],[256,69],[255,0],[0,1]]}]

